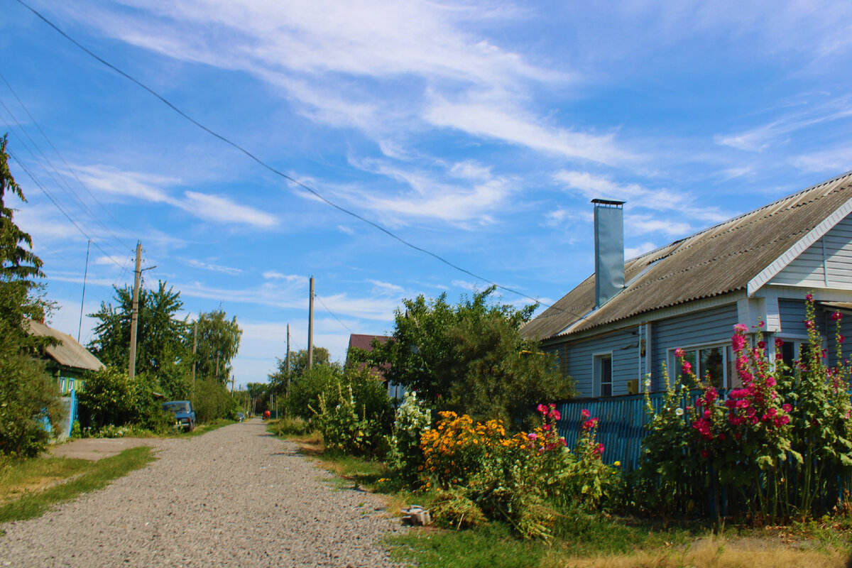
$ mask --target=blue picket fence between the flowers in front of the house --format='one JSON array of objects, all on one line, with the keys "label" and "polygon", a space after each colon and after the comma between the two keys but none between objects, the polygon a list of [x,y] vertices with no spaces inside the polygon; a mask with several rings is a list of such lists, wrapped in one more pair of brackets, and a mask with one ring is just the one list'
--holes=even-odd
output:
[{"label": "blue picket fence between the flowers in front of the house", "polygon": [[[727,390],[719,390],[720,399],[727,396]],[[682,408],[694,405],[695,399],[702,391],[685,391],[680,399]],[[651,393],[650,399],[654,412],[658,412],[663,404],[665,393]],[[583,431],[583,416],[581,410],[589,410],[590,415],[598,418],[595,441],[603,444],[603,461],[608,464],[620,462],[625,471],[632,471],[639,466],[642,456],[642,439],[648,435],[645,425],[650,420],[642,394],[608,399],[572,399],[557,404],[561,419],[556,422],[559,434],[565,439],[569,448],[577,445],[577,439]]]}]

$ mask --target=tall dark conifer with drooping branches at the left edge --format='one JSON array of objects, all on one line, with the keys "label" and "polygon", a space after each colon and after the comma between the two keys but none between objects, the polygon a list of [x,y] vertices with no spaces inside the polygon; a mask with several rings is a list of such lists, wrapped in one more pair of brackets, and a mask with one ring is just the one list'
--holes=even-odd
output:
[{"label": "tall dark conifer with drooping branches at the left edge", "polygon": [[6,135],[0,139],[0,453],[34,456],[47,445],[44,422],[59,427],[59,391],[33,355],[46,345],[27,334],[27,320],[43,319],[49,305],[34,292],[43,277],[32,238],[14,223],[10,192],[26,203],[9,171]]}]

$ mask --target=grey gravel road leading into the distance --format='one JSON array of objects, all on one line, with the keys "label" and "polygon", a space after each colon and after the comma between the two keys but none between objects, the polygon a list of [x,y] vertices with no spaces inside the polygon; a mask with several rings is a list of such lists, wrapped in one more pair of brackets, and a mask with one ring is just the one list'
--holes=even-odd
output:
[{"label": "grey gravel road leading into the distance", "polygon": [[38,519],[0,525],[0,566],[388,566],[404,530],[260,421],[153,439],[158,460]]}]

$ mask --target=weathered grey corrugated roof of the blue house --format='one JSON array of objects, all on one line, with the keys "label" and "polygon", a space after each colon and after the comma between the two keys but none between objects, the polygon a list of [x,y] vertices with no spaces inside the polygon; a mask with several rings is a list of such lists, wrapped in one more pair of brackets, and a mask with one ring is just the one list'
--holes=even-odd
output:
[{"label": "weathered grey corrugated roof of the blue house", "polygon": [[595,311],[592,274],[521,331],[547,339],[743,290],[850,199],[852,172],[625,261],[625,289]]}]

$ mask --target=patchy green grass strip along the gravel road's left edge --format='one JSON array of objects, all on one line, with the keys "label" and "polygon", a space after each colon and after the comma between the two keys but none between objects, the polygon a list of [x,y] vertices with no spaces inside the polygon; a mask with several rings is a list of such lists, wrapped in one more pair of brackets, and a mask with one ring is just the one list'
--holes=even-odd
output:
[{"label": "patchy green grass strip along the gravel road's left edge", "polygon": [[[3,474],[5,496],[12,496],[12,500],[0,505],[0,523],[38,517],[56,503],[101,489],[113,479],[144,468],[155,459],[151,448],[141,446],[97,462],[46,457],[14,463],[9,472]],[[46,479],[56,485],[45,484]],[[15,488],[22,489],[23,493],[13,496]]]}]

